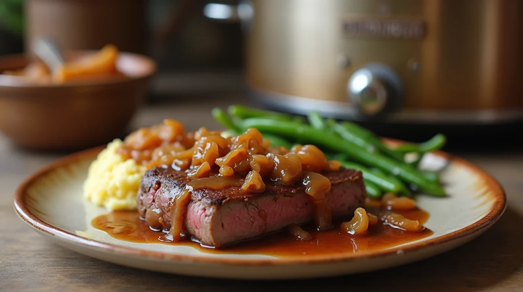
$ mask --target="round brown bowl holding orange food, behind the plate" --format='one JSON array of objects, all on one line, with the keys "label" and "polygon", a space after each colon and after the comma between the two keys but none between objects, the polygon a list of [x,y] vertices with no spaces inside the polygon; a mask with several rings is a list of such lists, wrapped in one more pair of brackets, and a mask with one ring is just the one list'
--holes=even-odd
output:
[{"label": "round brown bowl holding orange food, behind the plate", "polygon": [[[67,52],[65,59],[94,51]],[[29,55],[0,57],[0,72],[29,64]],[[0,131],[21,147],[71,150],[111,141],[122,134],[144,101],[156,63],[145,56],[120,53],[117,68],[126,78],[31,83],[0,74]]]}]

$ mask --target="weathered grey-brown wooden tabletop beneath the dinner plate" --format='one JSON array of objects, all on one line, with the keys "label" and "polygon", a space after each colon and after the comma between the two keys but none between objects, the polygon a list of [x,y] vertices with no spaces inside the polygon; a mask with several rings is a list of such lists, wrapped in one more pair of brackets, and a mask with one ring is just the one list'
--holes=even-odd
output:
[{"label": "weathered grey-brown wooden tabletop beneath the dinner plate", "polygon": [[[131,129],[174,118],[189,130],[217,126],[210,108],[226,100],[149,105]],[[202,106],[203,104],[203,106]],[[0,134],[0,290],[312,290],[342,286],[373,291],[523,291],[523,152],[460,154],[490,172],[508,196],[504,216],[464,246],[422,262],[360,275],[305,281],[228,281],[137,270],[88,258],[44,240],[15,214],[13,193],[30,173],[63,154],[39,154]],[[339,288],[338,288],[339,289]]]}]

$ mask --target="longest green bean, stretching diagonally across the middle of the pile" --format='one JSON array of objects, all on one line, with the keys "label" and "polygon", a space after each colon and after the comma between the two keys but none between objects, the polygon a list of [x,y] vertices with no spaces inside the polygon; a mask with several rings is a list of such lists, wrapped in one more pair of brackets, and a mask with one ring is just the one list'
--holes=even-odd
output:
[{"label": "longest green bean, stretching diagonally across the middle of the pile", "polygon": [[333,133],[314,129],[308,125],[300,125],[274,119],[249,118],[241,122],[242,127],[255,127],[259,131],[285,135],[292,138],[302,138],[316,145],[328,147],[370,166],[378,167],[385,172],[401,177],[409,183],[418,185],[420,189],[435,196],[445,196],[445,191],[437,184],[427,181],[416,169],[380,154],[369,153],[354,143],[345,141]]}]

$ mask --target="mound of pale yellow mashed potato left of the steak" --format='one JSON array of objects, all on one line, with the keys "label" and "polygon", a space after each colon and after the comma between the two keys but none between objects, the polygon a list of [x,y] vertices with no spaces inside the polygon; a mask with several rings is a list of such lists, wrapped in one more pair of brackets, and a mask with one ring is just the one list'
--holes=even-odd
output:
[{"label": "mound of pale yellow mashed potato left of the steak", "polygon": [[115,139],[89,166],[84,196],[110,210],[134,210],[140,180],[146,171],[133,159],[123,160],[116,150],[123,145]]}]

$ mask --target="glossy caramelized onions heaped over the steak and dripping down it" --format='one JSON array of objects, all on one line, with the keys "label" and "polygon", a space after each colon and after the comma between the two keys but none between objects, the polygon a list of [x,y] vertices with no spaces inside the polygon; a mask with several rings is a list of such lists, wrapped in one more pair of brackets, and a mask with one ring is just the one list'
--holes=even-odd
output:
[{"label": "glossy caramelized onions heaped over the steak and dripping down it", "polygon": [[[327,161],[323,152],[314,145],[295,145],[290,150],[272,147],[270,141],[254,128],[228,137],[205,127],[186,132],[181,123],[169,119],[131,133],[123,144],[118,149],[122,158],[132,158],[147,168],[162,166],[185,171],[191,179],[186,189],[174,197],[172,228],[165,236],[167,239],[177,241],[182,236],[185,208],[192,191],[234,187],[244,192],[263,192],[266,189],[264,180],[285,185],[303,184],[305,193],[314,204],[317,229],[333,228],[329,201],[331,181],[319,172],[337,171],[340,163]],[[152,212],[146,218],[153,228],[160,226],[158,223],[163,220],[157,215]],[[369,218],[370,224],[377,221],[371,214]],[[288,229],[300,240],[312,238],[299,226]]]}]

